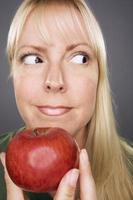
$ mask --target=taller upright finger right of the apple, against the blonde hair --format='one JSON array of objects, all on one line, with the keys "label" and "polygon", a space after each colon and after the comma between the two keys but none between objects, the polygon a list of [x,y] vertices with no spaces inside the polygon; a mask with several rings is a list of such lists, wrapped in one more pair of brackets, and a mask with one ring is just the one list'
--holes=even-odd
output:
[{"label": "taller upright finger right of the apple, against the blonde hair", "polygon": [[95,182],[91,173],[88,155],[85,149],[80,153],[80,198],[82,200],[96,200]]}]

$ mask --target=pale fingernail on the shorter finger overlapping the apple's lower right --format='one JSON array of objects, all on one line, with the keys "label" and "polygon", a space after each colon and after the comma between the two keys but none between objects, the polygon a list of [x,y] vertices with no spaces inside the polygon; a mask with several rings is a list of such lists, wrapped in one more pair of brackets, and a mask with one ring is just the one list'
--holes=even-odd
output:
[{"label": "pale fingernail on the shorter finger overlapping the apple's lower right", "polygon": [[66,181],[69,185],[75,186],[78,180],[79,176],[79,170],[78,169],[72,169],[68,174]]}]

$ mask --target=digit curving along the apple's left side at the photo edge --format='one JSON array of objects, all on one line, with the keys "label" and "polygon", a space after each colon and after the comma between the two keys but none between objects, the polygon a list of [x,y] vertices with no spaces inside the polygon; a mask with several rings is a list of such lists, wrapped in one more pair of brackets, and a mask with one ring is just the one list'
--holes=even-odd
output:
[{"label": "digit curving along the apple's left side at the photo edge", "polygon": [[4,178],[5,178],[6,188],[7,188],[7,200],[24,200],[23,191],[12,182],[12,180],[10,179],[8,175],[6,164],[5,164],[4,152],[0,154],[0,159],[4,167]]}]

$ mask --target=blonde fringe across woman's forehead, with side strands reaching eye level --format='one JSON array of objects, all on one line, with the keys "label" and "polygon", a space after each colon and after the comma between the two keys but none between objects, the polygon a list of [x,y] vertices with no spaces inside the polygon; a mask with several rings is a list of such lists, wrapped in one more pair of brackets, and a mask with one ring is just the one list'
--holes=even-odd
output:
[{"label": "blonde fringe across woman's forehead, with side strands reaching eye level", "polygon": [[27,0],[18,9],[8,34],[7,54],[11,65],[24,25],[30,15],[34,18],[34,28],[45,44],[51,44],[53,30],[55,35],[68,45],[82,38],[83,42],[91,48],[98,62],[102,60],[106,62],[102,32],[93,13],[84,2],[80,0]]}]

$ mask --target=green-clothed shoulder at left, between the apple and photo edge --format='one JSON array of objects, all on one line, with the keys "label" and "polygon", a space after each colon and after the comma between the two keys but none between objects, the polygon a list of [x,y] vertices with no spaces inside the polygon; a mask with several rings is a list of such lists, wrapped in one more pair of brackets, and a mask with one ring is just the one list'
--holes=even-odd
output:
[{"label": "green-clothed shoulder at left, between the apple and photo edge", "polygon": [[15,136],[15,134],[18,131],[20,131],[22,129],[24,129],[24,127],[20,128],[18,130],[9,131],[9,132],[0,134],[0,152],[6,151],[7,145],[9,144],[11,139]]}]

